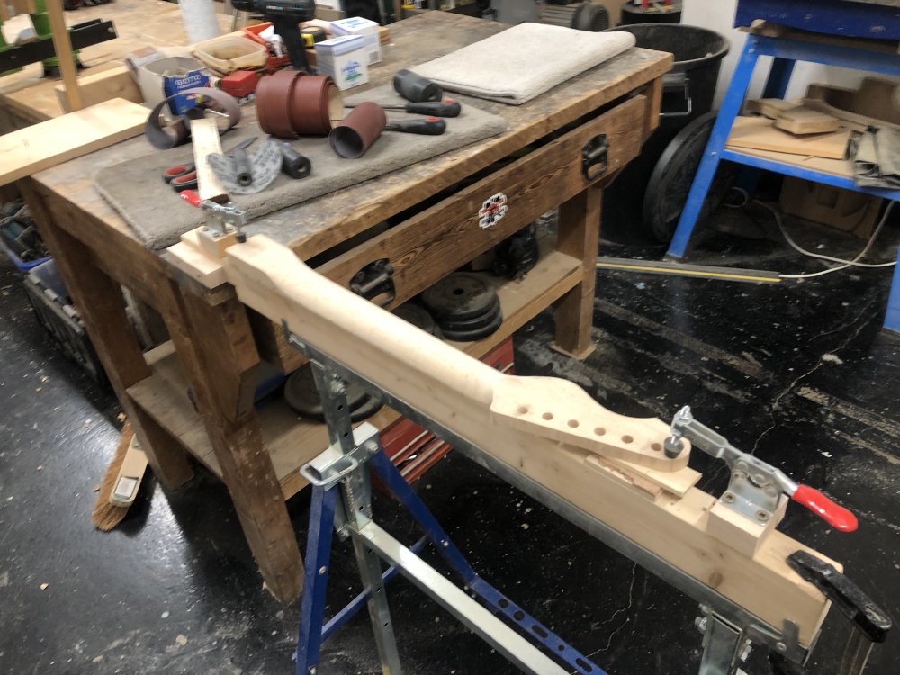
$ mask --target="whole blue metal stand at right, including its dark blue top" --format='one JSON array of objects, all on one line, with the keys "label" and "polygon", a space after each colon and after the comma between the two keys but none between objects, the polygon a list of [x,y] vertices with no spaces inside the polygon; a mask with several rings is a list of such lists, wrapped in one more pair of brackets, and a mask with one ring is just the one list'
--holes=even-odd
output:
[{"label": "whole blue metal stand at right, including its dark blue top", "polygon": [[[735,25],[749,25],[752,19],[777,21],[795,28],[842,37],[878,37],[900,40],[900,7],[896,4],[848,2],[847,0],[740,0]],[[848,48],[824,42],[772,38],[750,34],[734,69],[731,84],[698,166],[684,211],[672,238],[667,257],[684,257],[707,191],[723,159],[756,169],[804,178],[815,183],[842,187],[900,201],[900,190],[860,187],[851,177],[813,170],[767,157],[725,148],[734,119],[741,111],[753,70],[761,56],[774,57],[763,98],[784,98],[797,61],[866,70],[881,75],[900,76],[900,54]],[[898,254],[900,257],[900,254]],[[900,331],[900,265],[896,266],[887,301],[885,328]]]}]

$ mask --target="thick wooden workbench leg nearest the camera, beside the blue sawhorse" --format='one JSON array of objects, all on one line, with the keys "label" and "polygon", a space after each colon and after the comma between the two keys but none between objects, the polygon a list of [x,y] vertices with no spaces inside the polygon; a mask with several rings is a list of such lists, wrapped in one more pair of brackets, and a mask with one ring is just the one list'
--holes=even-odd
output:
[{"label": "thick wooden workbench leg nearest the camera, beside the blue sawhorse", "polygon": [[253,405],[259,356],[247,311],[236,298],[211,305],[174,283],[171,293],[181,319],[166,323],[247,544],[268,590],[292,602],[303,587],[303,561]]}]

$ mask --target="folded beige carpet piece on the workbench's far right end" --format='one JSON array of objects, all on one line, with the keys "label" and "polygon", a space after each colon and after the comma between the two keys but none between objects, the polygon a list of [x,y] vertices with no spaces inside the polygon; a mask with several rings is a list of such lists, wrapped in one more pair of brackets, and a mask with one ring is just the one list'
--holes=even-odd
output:
[{"label": "folded beige carpet piece on the workbench's far right end", "polygon": [[626,31],[519,23],[410,70],[451,91],[521,105],[634,46]]}]

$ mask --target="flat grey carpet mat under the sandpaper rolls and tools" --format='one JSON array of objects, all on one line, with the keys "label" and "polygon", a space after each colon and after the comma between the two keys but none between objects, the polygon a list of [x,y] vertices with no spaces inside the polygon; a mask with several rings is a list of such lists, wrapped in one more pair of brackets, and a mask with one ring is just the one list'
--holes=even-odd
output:
[{"label": "flat grey carpet mat under the sandpaper rolls and tools", "polygon": [[[349,96],[346,101],[403,103],[389,86]],[[388,111],[388,117],[411,119],[413,116]],[[447,129],[441,136],[385,131],[359,159],[338,157],[326,138],[295,140],[291,144],[293,148],[310,158],[311,175],[293,180],[282,174],[275,179],[275,183],[260,193],[232,197],[239,208],[247,211],[247,219],[253,220],[496,136],[507,128],[503,118],[470,105],[464,105],[459,117],[446,122]],[[222,148],[227,151],[241,140],[253,136],[258,136],[260,141],[266,138],[256,122],[242,122],[235,130],[222,137]],[[168,166],[191,161],[192,158],[193,149],[190,145],[156,152],[150,152],[148,147],[146,157],[101,169],[94,176],[94,184],[148,248],[166,248],[176,244],[184,232],[202,225],[204,221],[202,211],[180,202],[177,194],[160,177]]]}]

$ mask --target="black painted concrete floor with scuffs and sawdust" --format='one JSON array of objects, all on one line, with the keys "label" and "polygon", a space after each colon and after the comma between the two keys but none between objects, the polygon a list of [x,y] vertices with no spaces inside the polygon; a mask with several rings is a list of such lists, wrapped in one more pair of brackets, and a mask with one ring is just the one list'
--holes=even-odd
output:
[{"label": "black painted concrete floor with scuffs and sawdust", "polygon": [[[721,220],[729,219],[749,223],[743,212]],[[885,232],[879,257],[893,259],[898,234]],[[845,255],[861,246],[823,229],[798,237]],[[602,252],[661,254],[640,241]],[[694,259],[821,268],[776,238],[716,232]],[[584,363],[551,351],[553,320],[542,315],[516,337],[518,372],[567,377],[627,414],[667,419],[689,403],[734,445],[841,500],[860,517],[854,534],[800,508],[789,509],[782,528],[845,563],[900,617],[900,340],[879,330],[889,271],[772,286],[607,271],[598,280],[597,351]],[[91,527],[119,408],[49,344],[5,263],[0,400],[0,672],[293,671],[298,605],[281,606],[262,589],[228,496],[208,473],[199,469],[173,494],[151,480],[121,527]],[[706,460],[692,460],[706,475],[702,486],[721,491],[723,466]],[[419,492],[483,576],[602,668],[697,672],[697,607],[678,591],[462,456],[439,464]],[[397,536],[418,537],[387,500],[375,507]],[[304,542],[308,496],[289,508]],[[338,545],[329,611],[358,590],[351,561]],[[406,581],[394,581],[389,597],[406,672],[515,672]],[[845,635],[833,612],[810,673],[835,672]],[[762,649],[744,670],[769,672]],[[364,613],[326,644],[320,673],[377,672]],[[897,635],[877,647],[867,672],[900,672]]]}]

